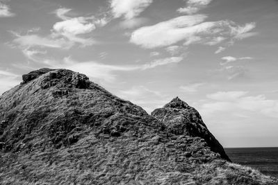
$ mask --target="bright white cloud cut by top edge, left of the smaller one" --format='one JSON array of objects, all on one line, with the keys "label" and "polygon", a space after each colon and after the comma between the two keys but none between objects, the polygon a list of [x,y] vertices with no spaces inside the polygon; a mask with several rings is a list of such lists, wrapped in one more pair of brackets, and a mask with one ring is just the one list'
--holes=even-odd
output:
[{"label": "bright white cloud cut by top edge, left of the smaller one", "polygon": [[133,19],[143,12],[152,0],[111,0],[111,8],[115,18]]}]

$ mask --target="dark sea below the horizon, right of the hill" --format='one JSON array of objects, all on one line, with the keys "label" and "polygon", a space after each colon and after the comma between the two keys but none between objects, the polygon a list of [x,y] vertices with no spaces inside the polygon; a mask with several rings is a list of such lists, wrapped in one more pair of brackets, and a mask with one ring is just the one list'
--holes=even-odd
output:
[{"label": "dark sea below the horizon, right of the hill", "polygon": [[225,148],[231,161],[250,166],[265,175],[278,178],[278,147],[275,148]]}]

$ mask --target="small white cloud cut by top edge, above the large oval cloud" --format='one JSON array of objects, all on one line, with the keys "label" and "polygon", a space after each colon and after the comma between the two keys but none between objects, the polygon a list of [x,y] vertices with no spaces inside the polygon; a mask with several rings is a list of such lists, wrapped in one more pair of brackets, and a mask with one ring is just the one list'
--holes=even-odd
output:
[{"label": "small white cloud cut by top edge, above the large oval cloud", "polygon": [[186,13],[186,14],[194,14],[201,10],[202,8],[205,8],[208,6],[209,3],[211,3],[212,0],[188,0],[186,2],[186,7],[179,8],[177,11],[180,13]]}]

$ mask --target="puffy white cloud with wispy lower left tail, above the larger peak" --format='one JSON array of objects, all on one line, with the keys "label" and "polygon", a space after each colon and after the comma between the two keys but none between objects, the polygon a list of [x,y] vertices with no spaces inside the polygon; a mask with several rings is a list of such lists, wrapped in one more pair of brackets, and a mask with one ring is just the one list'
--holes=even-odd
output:
[{"label": "puffy white cloud with wispy lower left tail, above the larger peak", "polygon": [[55,11],[56,16],[63,19],[63,21],[58,21],[54,24],[50,35],[42,37],[33,34],[33,32],[32,34],[27,33],[26,35],[12,32],[16,37],[13,42],[19,44],[24,49],[29,49],[32,46],[70,49],[76,43],[80,44],[80,46],[95,44],[96,42],[92,38],[80,36],[92,33],[95,30],[95,24],[92,23],[95,17],[70,18],[65,15],[70,10],[67,8],[59,8]]}]

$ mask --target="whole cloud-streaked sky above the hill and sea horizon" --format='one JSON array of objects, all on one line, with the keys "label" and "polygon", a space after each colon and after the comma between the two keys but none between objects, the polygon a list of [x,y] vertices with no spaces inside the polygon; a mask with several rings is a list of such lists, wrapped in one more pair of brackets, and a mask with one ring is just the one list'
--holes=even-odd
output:
[{"label": "whole cloud-streaked sky above the hill and sea horizon", "polygon": [[278,1],[0,0],[0,94],[42,67],[149,114],[179,96],[224,147],[278,146]]}]

